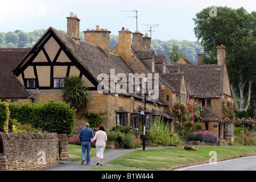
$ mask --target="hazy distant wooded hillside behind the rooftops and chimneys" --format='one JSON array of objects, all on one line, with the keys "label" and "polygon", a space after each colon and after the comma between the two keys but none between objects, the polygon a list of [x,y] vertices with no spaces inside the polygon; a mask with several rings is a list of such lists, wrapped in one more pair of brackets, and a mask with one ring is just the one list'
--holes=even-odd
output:
[{"label": "hazy distant wooded hillside behind the rooftops and chimneys", "polygon": [[[45,29],[34,30],[33,32],[23,32],[16,30],[14,32],[0,32],[0,48],[30,48],[39,38],[45,33]],[[65,31],[60,30],[63,33]],[[85,40],[85,35],[80,32],[80,39]],[[158,39],[151,40],[151,49],[154,49],[158,54],[165,54],[169,60],[167,52],[171,51],[171,46],[175,44],[179,46],[180,53],[185,53],[187,59],[197,63],[197,53],[202,50],[202,46],[199,42],[190,42],[189,40],[167,40],[162,41]],[[118,44],[118,35],[110,35],[110,49],[113,49]]]}]

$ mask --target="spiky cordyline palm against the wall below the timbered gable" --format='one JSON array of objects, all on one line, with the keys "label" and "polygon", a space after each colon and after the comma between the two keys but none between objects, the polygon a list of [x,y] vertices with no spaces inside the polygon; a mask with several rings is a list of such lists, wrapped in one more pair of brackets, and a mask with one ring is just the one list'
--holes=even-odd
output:
[{"label": "spiky cordyline palm against the wall below the timbered gable", "polygon": [[71,107],[79,109],[85,107],[89,101],[89,91],[82,86],[82,79],[79,76],[65,77],[62,90],[63,101],[70,103]]}]

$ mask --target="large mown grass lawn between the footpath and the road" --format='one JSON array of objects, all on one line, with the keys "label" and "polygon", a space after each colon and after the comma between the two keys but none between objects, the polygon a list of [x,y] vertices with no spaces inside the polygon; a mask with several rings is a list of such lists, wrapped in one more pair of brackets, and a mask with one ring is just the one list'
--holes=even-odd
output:
[{"label": "large mown grass lawn between the footpath and the road", "polygon": [[209,155],[210,151],[217,153],[217,161],[256,155],[255,146],[199,146],[196,149],[197,151],[187,151],[183,147],[166,147],[138,150],[108,163],[134,168],[170,170],[188,164],[209,162],[212,156]]}]

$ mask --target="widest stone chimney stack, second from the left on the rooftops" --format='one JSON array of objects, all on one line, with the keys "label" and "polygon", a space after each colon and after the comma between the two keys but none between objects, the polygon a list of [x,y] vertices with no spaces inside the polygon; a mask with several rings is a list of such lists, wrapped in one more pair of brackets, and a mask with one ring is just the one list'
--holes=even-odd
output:
[{"label": "widest stone chimney stack, second from the left on the rooftops", "polygon": [[95,30],[87,29],[84,31],[85,41],[95,46],[99,46],[106,53],[107,57],[110,55],[110,31],[107,28],[99,28],[96,26]]}]

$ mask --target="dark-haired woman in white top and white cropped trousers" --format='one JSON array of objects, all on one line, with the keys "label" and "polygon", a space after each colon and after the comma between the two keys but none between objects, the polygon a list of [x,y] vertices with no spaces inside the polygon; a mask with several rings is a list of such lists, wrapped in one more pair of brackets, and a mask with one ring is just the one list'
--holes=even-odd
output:
[{"label": "dark-haired woman in white top and white cropped trousers", "polygon": [[96,140],[95,147],[96,147],[97,160],[98,160],[97,165],[99,165],[99,159],[101,159],[101,166],[102,166],[103,152],[107,142],[107,134],[105,132],[104,126],[102,125],[99,126],[99,131],[95,133],[95,136],[94,138],[91,139],[91,142],[94,142],[95,140]]}]

